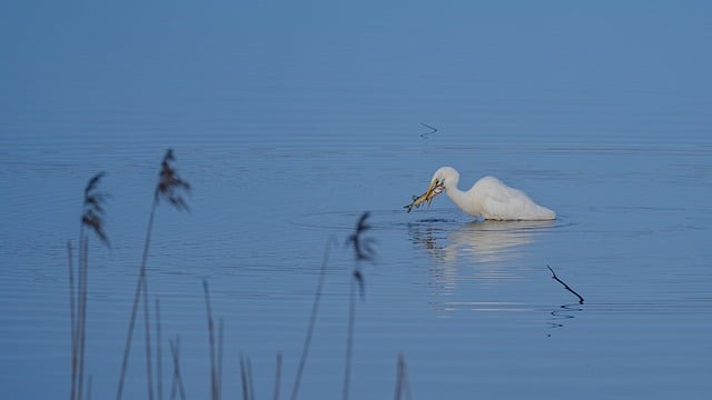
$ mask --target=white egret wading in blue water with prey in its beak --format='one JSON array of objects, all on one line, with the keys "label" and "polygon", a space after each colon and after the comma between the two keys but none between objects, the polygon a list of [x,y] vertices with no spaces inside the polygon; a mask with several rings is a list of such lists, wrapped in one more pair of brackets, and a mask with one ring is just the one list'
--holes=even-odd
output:
[{"label": "white egret wading in blue water with prey in its beak", "polygon": [[473,217],[483,217],[488,220],[553,220],[556,213],[546,207],[535,203],[526,193],[518,189],[510,188],[494,177],[479,179],[467,191],[457,189],[459,172],[452,167],[442,167],[433,174],[431,186],[425,193],[414,197],[413,202],[405,208],[408,212],[415,207],[427,202],[443,192],[461,210]]}]

